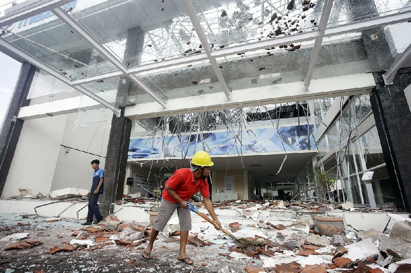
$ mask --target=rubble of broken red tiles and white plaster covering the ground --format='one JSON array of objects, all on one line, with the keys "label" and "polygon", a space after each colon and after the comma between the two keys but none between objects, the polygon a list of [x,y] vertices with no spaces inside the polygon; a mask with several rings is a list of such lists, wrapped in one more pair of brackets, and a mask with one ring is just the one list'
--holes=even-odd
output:
[{"label": "rubble of broken red tiles and white plaster covering the ground", "polygon": [[[198,209],[204,209],[201,203],[195,205]],[[192,230],[188,241],[192,248],[189,253],[190,256],[197,255],[192,257],[195,260],[198,258],[198,263],[195,262],[194,267],[201,272],[411,271],[411,219],[399,214],[389,214],[392,222],[390,225],[387,224],[384,232],[375,229],[356,230],[350,223],[345,223],[343,232],[336,230],[337,234],[326,236],[316,228],[312,218],[316,212],[330,209],[323,204],[283,201],[258,203],[237,200],[217,203],[215,207],[239,211],[241,216],[237,218],[219,216],[220,222],[236,238],[252,239],[261,244],[248,247],[236,245],[230,237],[216,230],[196,214],[192,214]],[[270,218],[261,217],[259,214],[261,211],[279,209],[303,209],[308,212],[301,213],[298,218]],[[339,209],[355,210],[350,204],[342,204]],[[67,252],[119,248],[136,254],[136,257],[129,258],[128,261],[136,264],[136,268],[141,267],[140,263],[150,263],[140,256],[151,234],[151,224],[148,222],[122,222],[114,215],[110,215],[104,222],[95,226],[83,227],[77,223],[69,229],[68,236],[58,235],[57,238],[61,241],[53,244],[39,238],[30,238],[28,232],[13,231],[30,226],[35,228],[42,223],[57,224],[60,221],[40,221],[36,217],[38,216],[35,214],[24,216],[25,220],[34,221],[18,222],[14,227],[0,226],[0,232],[8,234],[0,240],[3,253],[47,247],[47,255],[55,256]],[[40,236],[43,232],[37,230],[36,235]],[[67,237],[70,239],[67,240]],[[160,232],[153,251],[164,257],[161,259],[167,262],[167,259],[177,255],[177,250],[175,253],[170,251],[178,249],[179,240],[178,217],[173,216],[164,231]],[[164,255],[162,252],[169,254]],[[10,259],[2,260],[2,257],[6,256],[0,256],[0,267],[11,262]],[[161,259],[155,260],[155,263],[161,262]]]}]

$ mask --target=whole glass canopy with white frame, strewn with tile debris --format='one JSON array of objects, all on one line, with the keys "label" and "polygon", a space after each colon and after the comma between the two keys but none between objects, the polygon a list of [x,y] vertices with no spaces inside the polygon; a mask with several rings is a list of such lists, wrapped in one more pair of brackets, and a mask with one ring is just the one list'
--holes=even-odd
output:
[{"label": "whole glass canopy with white frame, strewn with tile debris", "polygon": [[[0,50],[105,106],[166,102],[410,63],[408,0],[20,0]],[[319,43],[317,43],[319,42]]]}]

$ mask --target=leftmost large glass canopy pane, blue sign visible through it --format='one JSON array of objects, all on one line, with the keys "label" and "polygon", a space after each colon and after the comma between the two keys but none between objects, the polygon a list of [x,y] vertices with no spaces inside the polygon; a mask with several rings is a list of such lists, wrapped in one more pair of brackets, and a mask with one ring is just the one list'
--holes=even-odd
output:
[{"label": "leftmost large glass canopy pane, blue sign visible through it", "polygon": [[2,38],[71,80],[116,70],[50,11],[8,26]]}]

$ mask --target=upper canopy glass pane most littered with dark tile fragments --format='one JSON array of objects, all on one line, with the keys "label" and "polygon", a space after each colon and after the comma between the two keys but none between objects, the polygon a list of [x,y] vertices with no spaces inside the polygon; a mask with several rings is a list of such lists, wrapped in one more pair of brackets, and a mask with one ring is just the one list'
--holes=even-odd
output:
[{"label": "upper canopy glass pane most littered with dark tile fragments", "polygon": [[316,29],[322,11],[308,0],[191,2],[212,49]]}]

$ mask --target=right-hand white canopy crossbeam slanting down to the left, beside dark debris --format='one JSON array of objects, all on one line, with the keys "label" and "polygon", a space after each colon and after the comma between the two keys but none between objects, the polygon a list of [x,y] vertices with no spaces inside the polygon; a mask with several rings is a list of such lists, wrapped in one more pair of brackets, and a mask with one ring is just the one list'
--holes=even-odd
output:
[{"label": "right-hand white canopy crossbeam slanting down to the left, beside dark debris", "polygon": [[325,29],[327,28],[328,18],[330,17],[332,4],[334,3],[333,0],[326,0],[323,7],[323,12],[321,13],[320,18],[320,25],[319,28],[319,36],[316,38],[314,43],[314,49],[311,53],[310,64],[308,66],[307,75],[305,76],[303,87],[304,91],[308,92],[308,88],[310,87],[310,82],[312,79],[312,74],[315,70],[315,64],[317,63],[318,55],[320,54],[321,45],[323,43]]}]

